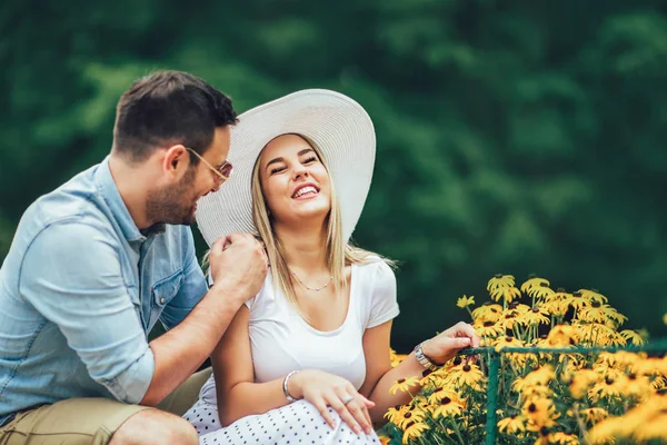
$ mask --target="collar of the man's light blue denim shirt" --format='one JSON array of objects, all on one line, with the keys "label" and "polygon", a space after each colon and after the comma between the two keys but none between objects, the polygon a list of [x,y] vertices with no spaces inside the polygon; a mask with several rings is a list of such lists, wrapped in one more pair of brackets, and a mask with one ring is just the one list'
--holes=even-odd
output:
[{"label": "collar of the man's light blue denim shirt", "polygon": [[122,235],[128,241],[145,241],[148,236],[162,234],[165,231],[166,226],[163,224],[152,225],[143,230],[143,234],[139,230],[118,191],[113,177],[111,176],[111,170],[109,170],[109,156],[107,156],[99,165],[96,171],[96,182],[98,190],[102,194],[104,201],[116,218],[116,222],[118,222]]}]

